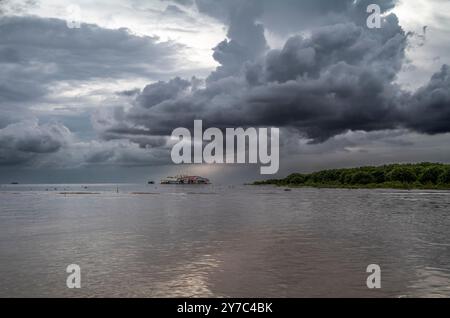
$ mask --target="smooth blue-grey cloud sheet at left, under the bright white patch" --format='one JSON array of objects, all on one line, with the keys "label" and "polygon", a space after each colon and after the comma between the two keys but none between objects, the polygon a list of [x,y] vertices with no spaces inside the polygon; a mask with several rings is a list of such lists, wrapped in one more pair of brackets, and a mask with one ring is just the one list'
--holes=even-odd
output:
[{"label": "smooth blue-grey cloud sheet at left, under the bright white patch", "polygon": [[182,47],[126,29],[58,19],[0,18],[0,101],[35,100],[62,80],[151,76],[171,69]]}]

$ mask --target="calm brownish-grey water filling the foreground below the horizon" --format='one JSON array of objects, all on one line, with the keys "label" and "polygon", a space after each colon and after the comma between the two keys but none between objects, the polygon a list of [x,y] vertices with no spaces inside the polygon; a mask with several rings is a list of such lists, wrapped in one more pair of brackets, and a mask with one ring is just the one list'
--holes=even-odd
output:
[{"label": "calm brownish-grey water filling the foreground below the horizon", "polygon": [[0,296],[450,297],[450,192],[1,186]]}]

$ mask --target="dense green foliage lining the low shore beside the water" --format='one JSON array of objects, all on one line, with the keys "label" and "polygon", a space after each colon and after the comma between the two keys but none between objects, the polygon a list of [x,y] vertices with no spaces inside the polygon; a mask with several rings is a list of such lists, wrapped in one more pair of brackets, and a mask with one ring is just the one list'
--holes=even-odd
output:
[{"label": "dense green foliage lining the low shore beside the water", "polygon": [[348,188],[450,189],[450,165],[419,163],[333,169],[310,174],[294,173],[284,179],[272,179],[255,182],[254,184]]}]

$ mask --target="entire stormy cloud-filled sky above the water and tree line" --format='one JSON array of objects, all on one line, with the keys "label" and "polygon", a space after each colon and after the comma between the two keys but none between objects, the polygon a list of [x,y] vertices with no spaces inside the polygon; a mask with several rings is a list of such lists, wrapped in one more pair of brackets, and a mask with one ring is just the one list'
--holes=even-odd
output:
[{"label": "entire stormy cloud-filled sky above the water and tree line", "polygon": [[0,183],[262,178],[173,166],[194,119],[279,127],[280,176],[450,162],[449,34],[448,0],[0,0]]}]

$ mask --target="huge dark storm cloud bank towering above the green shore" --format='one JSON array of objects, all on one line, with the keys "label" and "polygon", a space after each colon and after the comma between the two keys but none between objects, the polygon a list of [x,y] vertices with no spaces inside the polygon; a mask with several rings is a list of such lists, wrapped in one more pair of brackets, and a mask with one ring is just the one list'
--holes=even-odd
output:
[{"label": "huge dark storm cloud bank towering above the green shore", "polygon": [[[229,24],[228,39],[214,48],[220,66],[199,88],[175,78],[148,85],[133,107],[103,122],[106,138],[169,135],[203,119],[214,127],[276,126],[313,143],[353,131],[450,131],[449,67],[444,65],[415,93],[395,84],[405,62],[407,34],[394,14],[368,29],[372,1],[196,1],[200,11]],[[395,1],[380,1],[383,11]],[[318,17],[299,24],[281,49],[269,50],[260,21],[296,10]],[[270,12],[272,13],[272,12]],[[288,15],[289,17],[289,15]],[[324,17],[329,17],[330,20]],[[283,30],[285,22],[275,29]],[[303,32],[304,31],[304,32]]]}]

